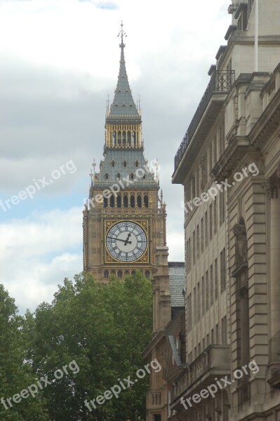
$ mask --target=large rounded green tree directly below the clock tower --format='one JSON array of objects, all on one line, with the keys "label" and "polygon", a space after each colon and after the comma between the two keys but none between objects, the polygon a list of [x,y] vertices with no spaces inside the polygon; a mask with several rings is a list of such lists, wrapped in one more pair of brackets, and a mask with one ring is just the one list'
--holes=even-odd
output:
[{"label": "large rounded green tree directly below the clock tower", "polygon": [[148,375],[92,411],[84,401],[128,376],[135,380],[151,333],[152,285],[140,272],[108,285],[84,274],[65,279],[52,304],[41,304],[29,320],[28,358],[39,376],[53,379],[71,361],[79,366],[44,389],[51,420],[145,420]]}]

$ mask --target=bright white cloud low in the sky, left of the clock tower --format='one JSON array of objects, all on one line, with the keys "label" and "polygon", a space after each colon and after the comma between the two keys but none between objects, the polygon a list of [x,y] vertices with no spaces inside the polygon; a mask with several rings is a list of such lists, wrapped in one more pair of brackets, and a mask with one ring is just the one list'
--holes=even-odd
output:
[{"label": "bright white cloud low in the sky, left of the clock tower", "polygon": [[83,269],[81,216],[52,210],[0,225],[0,283],[22,311],[51,302],[58,283]]}]

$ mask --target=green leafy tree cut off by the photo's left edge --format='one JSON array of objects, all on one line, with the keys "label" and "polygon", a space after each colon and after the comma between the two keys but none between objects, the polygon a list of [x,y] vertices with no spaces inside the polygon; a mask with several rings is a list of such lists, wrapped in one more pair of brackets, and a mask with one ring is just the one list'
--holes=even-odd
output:
[{"label": "green leafy tree cut off by the photo's left edge", "polygon": [[[27,337],[25,317],[18,316],[15,301],[0,285],[0,420],[48,421],[46,401],[38,394],[15,403],[11,398],[36,383],[32,367],[26,359]],[[7,401],[10,399],[10,401]],[[16,398],[19,400],[20,396]]]}]

